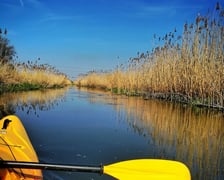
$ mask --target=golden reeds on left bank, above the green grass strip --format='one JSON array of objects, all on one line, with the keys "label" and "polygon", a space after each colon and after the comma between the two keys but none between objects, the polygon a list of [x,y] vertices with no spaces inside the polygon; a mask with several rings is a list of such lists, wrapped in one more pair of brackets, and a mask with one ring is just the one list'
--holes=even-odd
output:
[{"label": "golden reeds on left bank, above the green grass strip", "polygon": [[42,87],[64,86],[71,84],[68,77],[49,65],[0,64],[0,84],[36,84]]}]

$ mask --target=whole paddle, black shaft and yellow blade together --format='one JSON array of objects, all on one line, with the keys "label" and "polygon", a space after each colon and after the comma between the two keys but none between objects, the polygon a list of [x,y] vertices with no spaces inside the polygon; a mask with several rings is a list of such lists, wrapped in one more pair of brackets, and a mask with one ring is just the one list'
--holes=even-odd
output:
[{"label": "whole paddle, black shaft and yellow blade together", "polygon": [[128,160],[106,166],[77,166],[0,160],[0,168],[43,169],[100,173],[113,176],[120,180],[191,179],[190,172],[183,163],[159,159]]}]

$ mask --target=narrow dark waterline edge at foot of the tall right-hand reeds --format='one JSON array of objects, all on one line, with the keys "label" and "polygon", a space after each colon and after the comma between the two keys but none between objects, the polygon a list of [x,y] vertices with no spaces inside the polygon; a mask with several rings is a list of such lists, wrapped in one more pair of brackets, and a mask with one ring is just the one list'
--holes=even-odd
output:
[{"label": "narrow dark waterline edge at foot of the tall right-hand reeds", "polygon": [[112,88],[108,89],[106,87],[96,87],[96,86],[80,86],[77,85],[78,88],[87,88],[91,90],[103,90],[105,92],[112,92],[113,94],[116,95],[125,95],[125,96],[136,96],[136,97],[142,97],[144,100],[150,100],[150,99],[159,99],[163,101],[169,101],[169,102],[176,102],[176,103],[181,103],[181,104],[187,104],[193,107],[198,107],[198,108],[209,108],[209,109],[214,109],[218,111],[224,112],[224,107],[223,106],[217,106],[217,105],[212,105],[212,104],[206,104],[203,103],[199,98],[192,98],[184,94],[180,93],[161,93],[161,92],[130,92],[127,90],[123,89],[118,89],[118,88]]}]

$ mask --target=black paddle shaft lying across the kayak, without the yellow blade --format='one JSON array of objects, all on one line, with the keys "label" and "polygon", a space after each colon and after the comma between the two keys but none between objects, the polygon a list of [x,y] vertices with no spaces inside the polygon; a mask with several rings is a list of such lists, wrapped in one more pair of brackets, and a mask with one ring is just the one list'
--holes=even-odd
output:
[{"label": "black paddle shaft lying across the kayak, without the yellow blade", "polygon": [[53,163],[23,162],[23,161],[0,161],[0,168],[42,169],[55,171],[90,172],[103,174],[103,166],[77,166]]}]

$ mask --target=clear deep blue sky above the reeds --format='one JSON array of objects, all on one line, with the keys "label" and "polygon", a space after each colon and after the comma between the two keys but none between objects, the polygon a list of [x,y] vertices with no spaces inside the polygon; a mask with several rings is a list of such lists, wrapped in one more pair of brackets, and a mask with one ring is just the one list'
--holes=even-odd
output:
[{"label": "clear deep blue sky above the reeds", "polygon": [[[48,63],[69,77],[109,70],[153,46],[153,35],[182,33],[216,0],[0,0],[20,61]],[[219,1],[223,6],[223,0]]]}]

